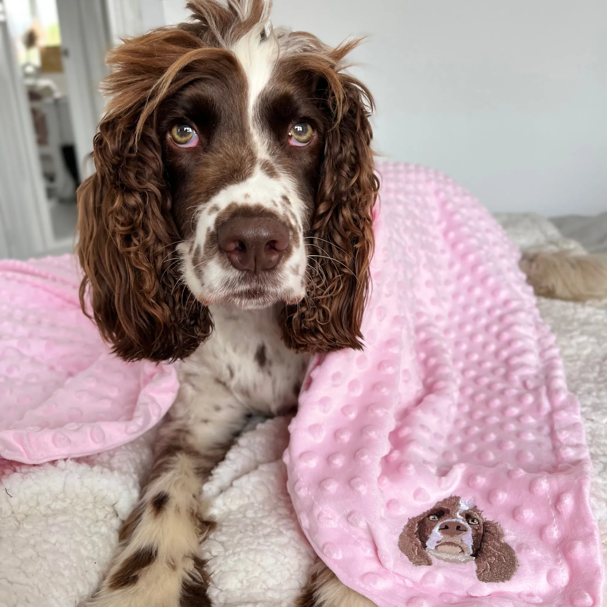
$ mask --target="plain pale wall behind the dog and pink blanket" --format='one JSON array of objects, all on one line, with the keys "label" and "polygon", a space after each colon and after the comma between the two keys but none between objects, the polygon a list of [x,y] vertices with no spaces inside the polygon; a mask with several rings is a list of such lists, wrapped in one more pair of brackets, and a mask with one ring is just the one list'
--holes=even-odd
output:
[{"label": "plain pale wall behind the dog and pink blanket", "polygon": [[273,22],[370,37],[353,71],[385,157],[447,172],[493,211],[607,210],[607,0],[274,0]]}]

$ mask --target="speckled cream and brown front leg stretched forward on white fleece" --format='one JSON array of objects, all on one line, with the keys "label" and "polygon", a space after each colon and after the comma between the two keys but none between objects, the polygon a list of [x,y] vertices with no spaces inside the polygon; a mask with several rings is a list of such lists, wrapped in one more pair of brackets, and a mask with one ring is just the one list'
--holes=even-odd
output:
[{"label": "speckled cream and brown front leg stretched forward on white fleece", "polygon": [[161,427],[155,463],[124,521],[109,571],[81,607],[203,607],[209,576],[199,556],[211,531],[200,490],[242,428],[246,411],[209,378],[195,402],[180,393]]}]

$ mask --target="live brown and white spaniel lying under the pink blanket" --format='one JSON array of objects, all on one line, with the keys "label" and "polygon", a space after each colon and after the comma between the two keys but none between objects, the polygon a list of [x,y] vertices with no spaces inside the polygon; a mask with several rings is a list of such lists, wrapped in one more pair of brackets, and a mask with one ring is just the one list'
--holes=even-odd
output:
[{"label": "live brown and white spaniel lying under the pink blanket", "polygon": [[[371,95],[342,72],[358,42],[274,30],[270,4],[192,0],[191,22],[108,56],[97,172],[78,192],[83,307],[122,358],[185,362],[83,605],[211,605],[202,484],[251,414],[295,407],[309,352],[361,347],[378,178]],[[352,605],[325,576],[300,603]],[[331,584],[345,598],[324,602]]]}]

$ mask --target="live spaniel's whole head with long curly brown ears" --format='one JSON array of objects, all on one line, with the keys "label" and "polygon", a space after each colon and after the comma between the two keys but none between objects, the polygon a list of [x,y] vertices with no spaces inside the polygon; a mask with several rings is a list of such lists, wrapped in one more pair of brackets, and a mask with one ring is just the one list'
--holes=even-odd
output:
[{"label": "live spaniel's whole head with long curly brown ears", "polygon": [[78,192],[81,299],[125,359],[183,358],[211,304],[284,302],[296,350],[360,347],[378,191],[356,46],[274,30],[270,0],[108,55],[96,173]]}]

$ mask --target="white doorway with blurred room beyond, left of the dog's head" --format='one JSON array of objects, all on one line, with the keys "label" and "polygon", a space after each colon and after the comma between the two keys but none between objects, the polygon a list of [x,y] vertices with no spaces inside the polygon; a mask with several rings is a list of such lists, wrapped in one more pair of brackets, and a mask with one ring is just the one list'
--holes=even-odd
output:
[{"label": "white doorway with blurred room beyond, left of the dog's head", "polygon": [[[54,43],[41,23],[49,7]],[[30,59],[24,39],[38,31]],[[75,186],[93,171],[110,46],[105,0],[0,0],[0,258],[72,249]],[[42,61],[49,50],[60,56],[56,68]]]}]

